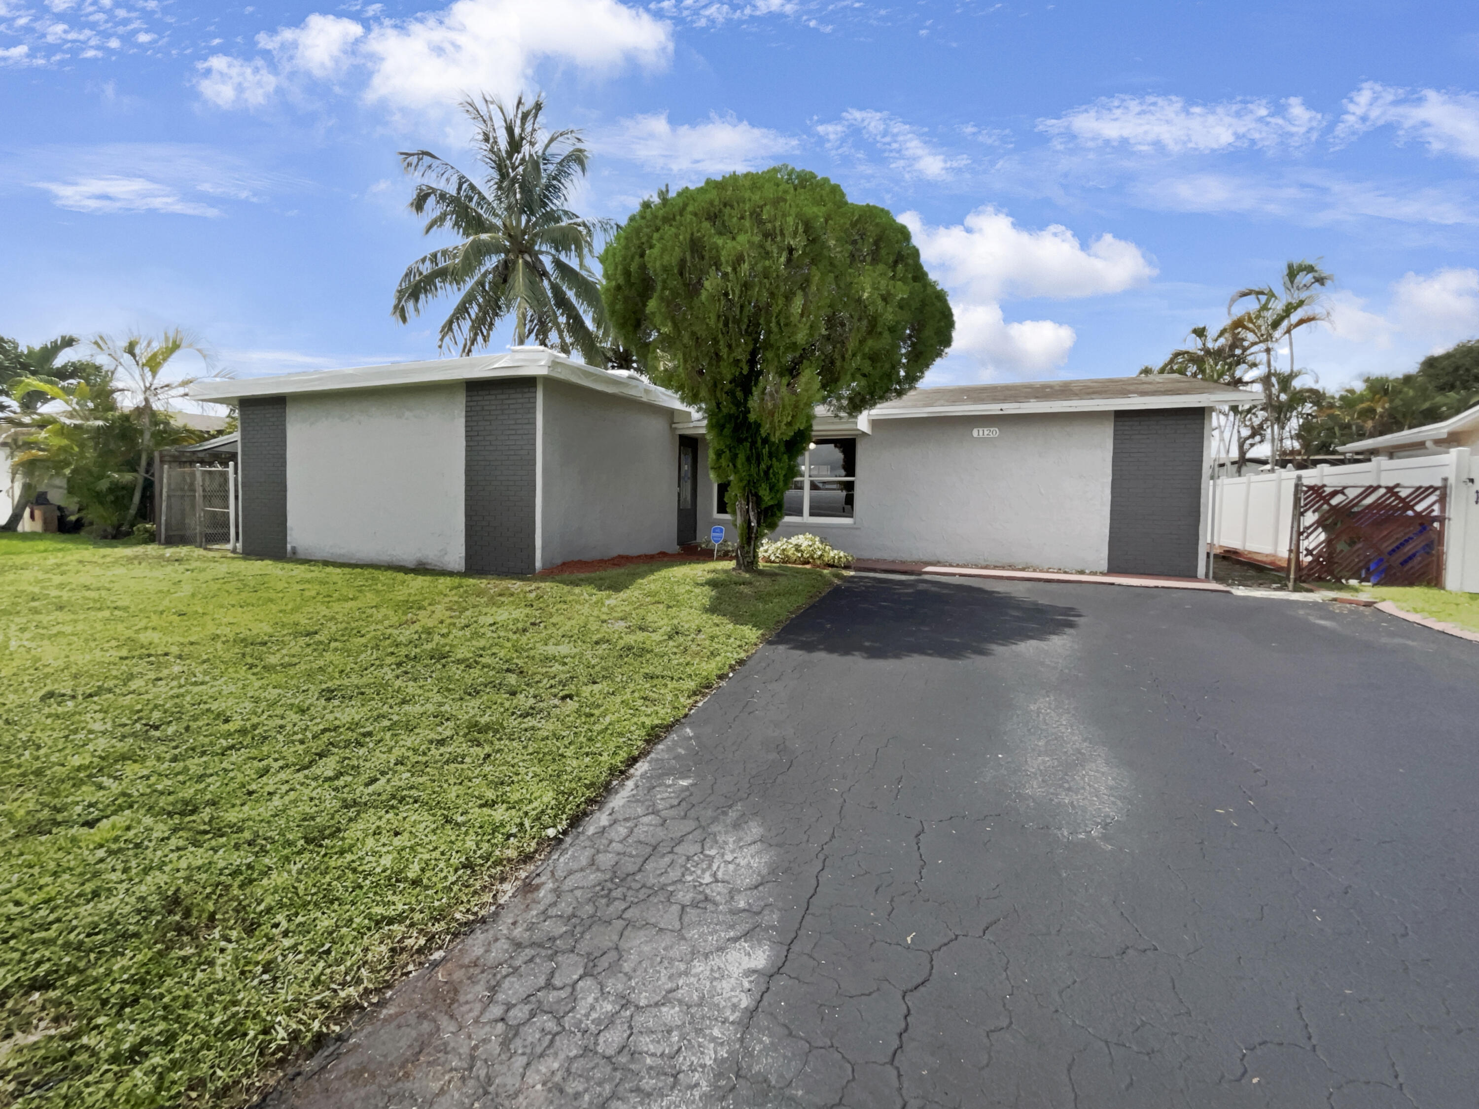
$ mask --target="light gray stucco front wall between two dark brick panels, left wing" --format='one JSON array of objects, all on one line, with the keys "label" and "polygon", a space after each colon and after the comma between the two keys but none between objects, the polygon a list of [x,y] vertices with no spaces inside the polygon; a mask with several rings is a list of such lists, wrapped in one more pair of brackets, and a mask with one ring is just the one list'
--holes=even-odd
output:
[{"label": "light gray stucco front wall between two dark brick panels, left wing", "polygon": [[297,557],[463,569],[463,383],[287,402]]}]

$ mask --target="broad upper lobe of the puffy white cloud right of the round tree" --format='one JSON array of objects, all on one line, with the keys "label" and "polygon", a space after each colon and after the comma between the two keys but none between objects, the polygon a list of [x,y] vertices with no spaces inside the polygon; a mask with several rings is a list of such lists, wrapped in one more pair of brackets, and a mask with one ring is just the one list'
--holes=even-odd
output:
[{"label": "broad upper lobe of the puffy white cloud right of the round tree", "polygon": [[1100,296],[1155,277],[1155,266],[1133,243],[1106,234],[1084,250],[1059,223],[1026,231],[991,206],[976,208],[952,228],[930,228],[914,211],[899,219],[944,284],[967,290],[978,300]]}]

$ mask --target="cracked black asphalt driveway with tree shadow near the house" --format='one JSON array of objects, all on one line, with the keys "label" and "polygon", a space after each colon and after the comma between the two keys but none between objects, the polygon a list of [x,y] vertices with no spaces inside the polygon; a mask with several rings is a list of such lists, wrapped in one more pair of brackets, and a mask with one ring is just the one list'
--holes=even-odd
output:
[{"label": "cracked black asphalt driveway with tree shadow near the house", "polygon": [[266,1105],[1475,1106],[1476,664],[853,575]]}]

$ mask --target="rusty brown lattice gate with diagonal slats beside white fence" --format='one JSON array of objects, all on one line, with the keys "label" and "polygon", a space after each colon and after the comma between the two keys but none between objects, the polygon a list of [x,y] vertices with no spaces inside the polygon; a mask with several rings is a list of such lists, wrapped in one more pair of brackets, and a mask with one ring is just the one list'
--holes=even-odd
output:
[{"label": "rusty brown lattice gate with diagonal slats beside white fence", "polygon": [[1442,586],[1448,482],[1294,486],[1294,581]]}]

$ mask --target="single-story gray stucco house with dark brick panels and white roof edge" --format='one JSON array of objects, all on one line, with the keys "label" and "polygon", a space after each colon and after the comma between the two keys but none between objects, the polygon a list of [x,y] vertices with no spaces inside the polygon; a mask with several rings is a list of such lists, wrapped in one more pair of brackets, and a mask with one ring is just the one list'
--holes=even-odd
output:
[{"label": "single-story gray stucco house with dark brick panels and white roof edge", "polygon": [[[247,554],[531,574],[729,526],[701,414],[543,347],[191,396],[238,405]],[[859,557],[1201,575],[1211,411],[1257,402],[1164,376],[821,414],[778,531]]]}]

